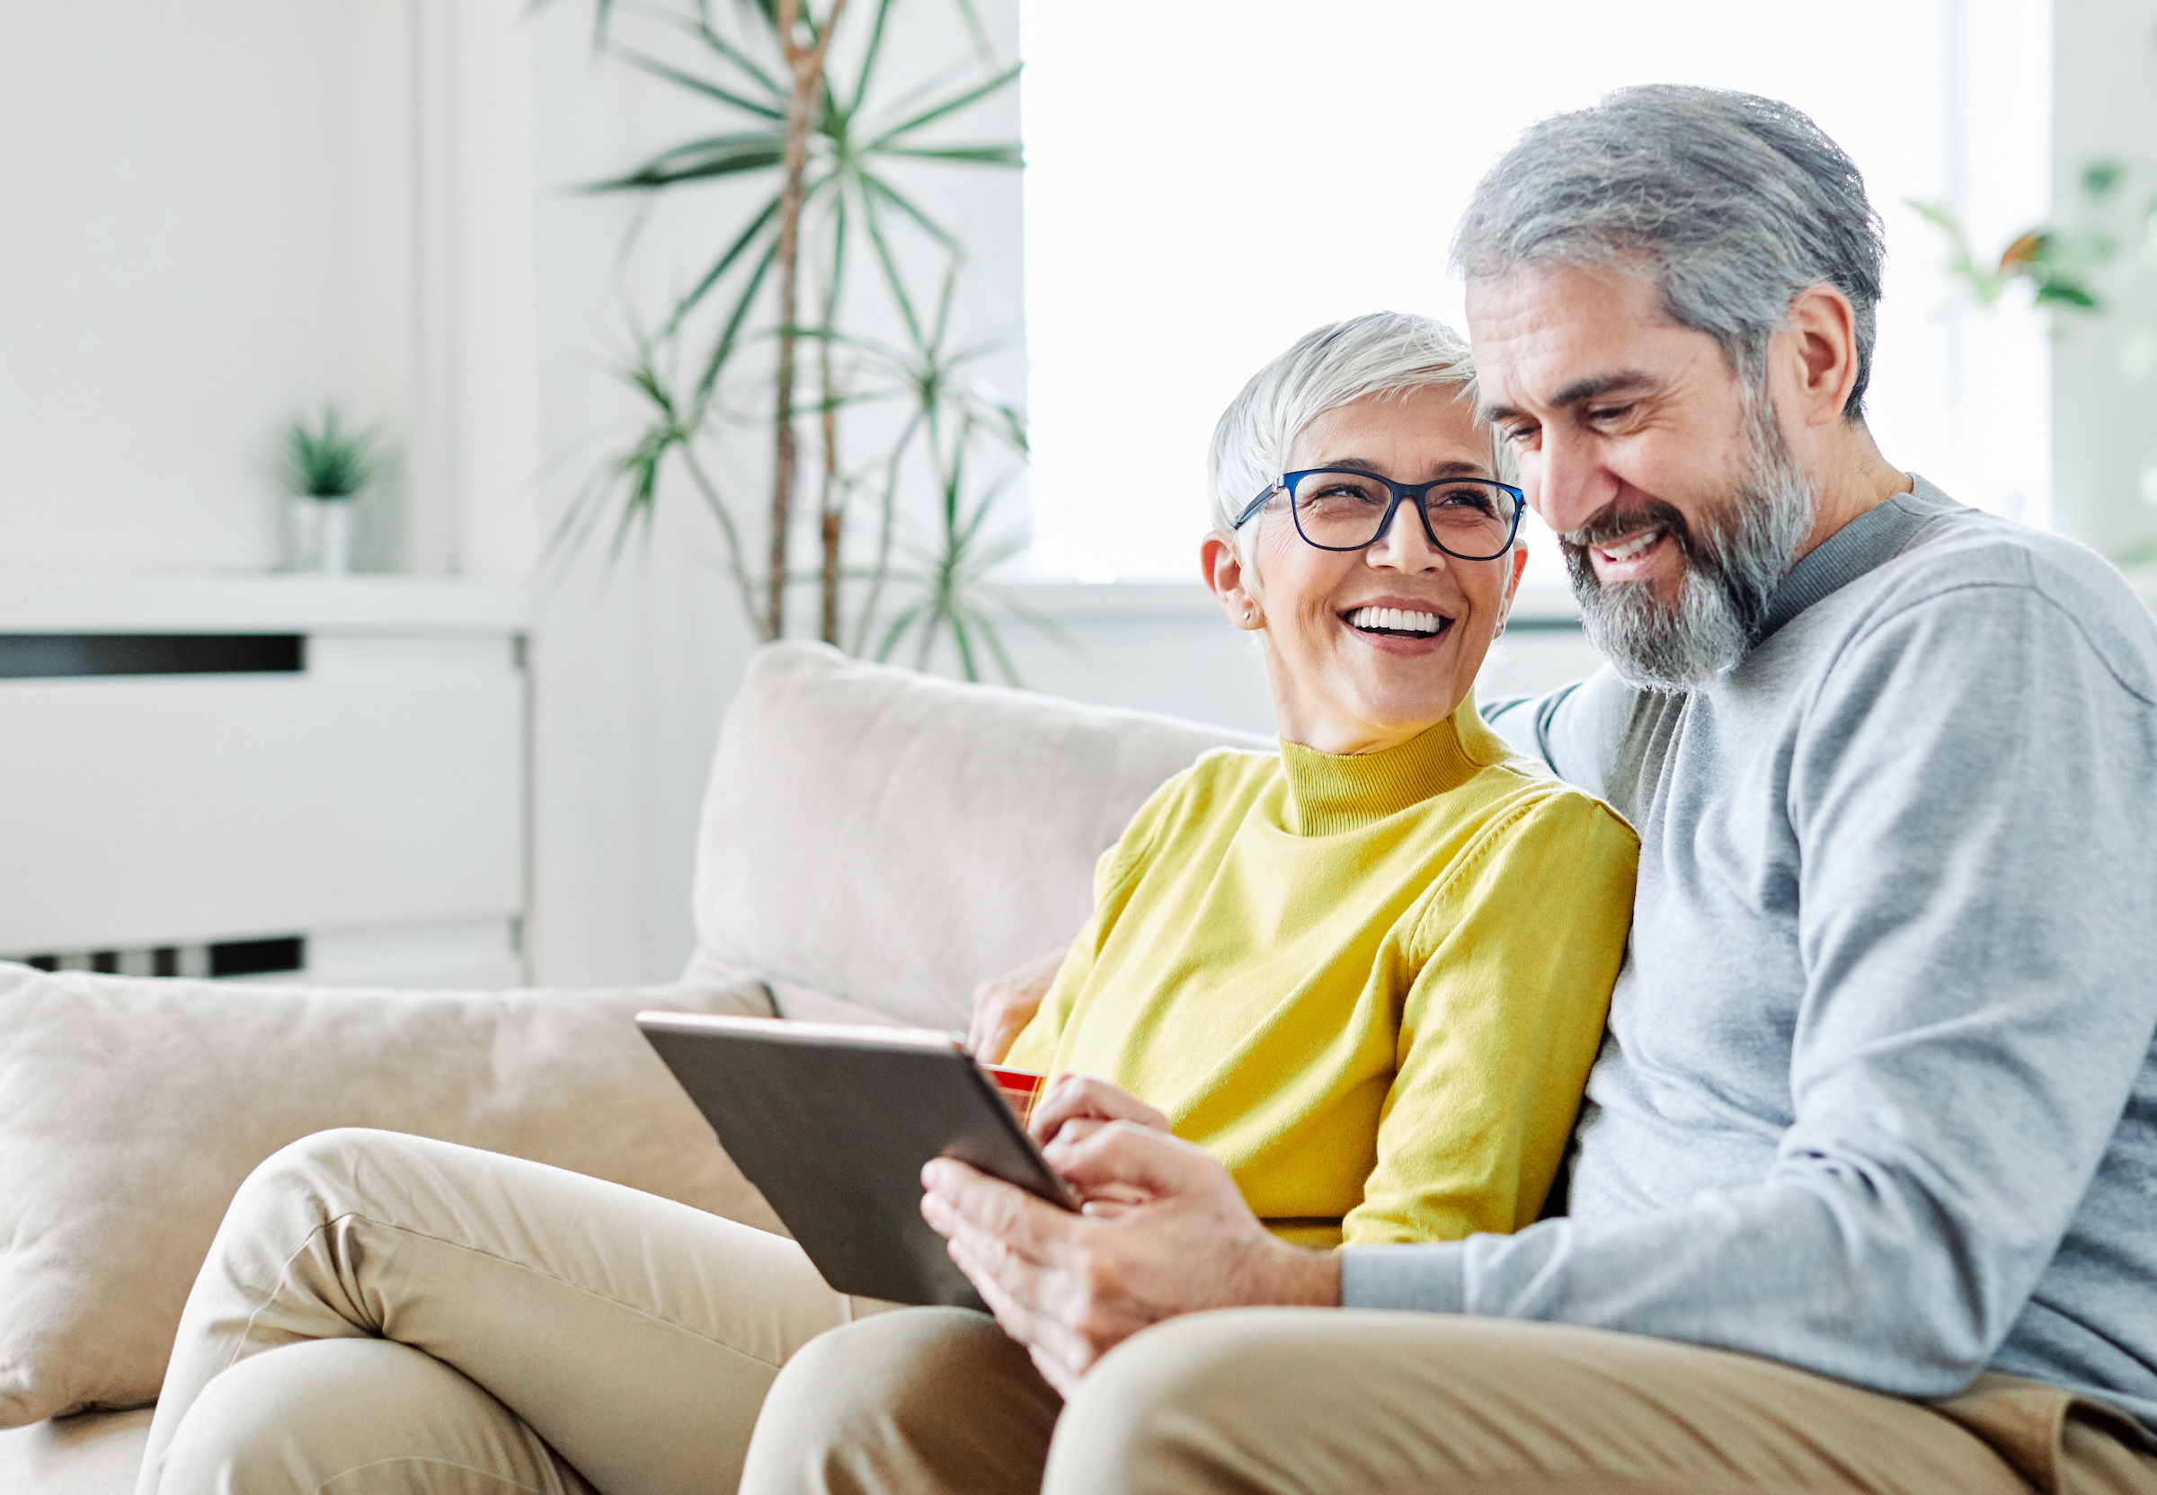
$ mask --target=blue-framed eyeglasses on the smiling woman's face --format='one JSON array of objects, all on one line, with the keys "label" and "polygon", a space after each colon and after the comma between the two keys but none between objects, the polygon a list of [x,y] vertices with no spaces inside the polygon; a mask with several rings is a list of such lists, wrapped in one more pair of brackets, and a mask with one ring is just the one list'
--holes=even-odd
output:
[{"label": "blue-framed eyeglasses on the smiling woman's face", "polygon": [[1393,513],[1409,503],[1424,520],[1430,544],[1460,561],[1495,561],[1506,554],[1521,531],[1525,503],[1519,488],[1484,477],[1396,483],[1359,468],[1305,468],[1268,483],[1229,529],[1249,524],[1275,494],[1288,494],[1296,533],[1318,550],[1368,550],[1385,539]]}]

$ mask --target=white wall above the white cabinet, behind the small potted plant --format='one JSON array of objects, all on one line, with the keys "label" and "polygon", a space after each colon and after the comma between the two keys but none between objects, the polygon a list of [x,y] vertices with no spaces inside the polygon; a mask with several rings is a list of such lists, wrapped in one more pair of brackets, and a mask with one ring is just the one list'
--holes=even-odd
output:
[{"label": "white wall above the white cabinet, behind the small potted plant", "polygon": [[528,567],[520,13],[0,6],[0,570],[276,565],[326,399],[395,447],[369,570]]}]

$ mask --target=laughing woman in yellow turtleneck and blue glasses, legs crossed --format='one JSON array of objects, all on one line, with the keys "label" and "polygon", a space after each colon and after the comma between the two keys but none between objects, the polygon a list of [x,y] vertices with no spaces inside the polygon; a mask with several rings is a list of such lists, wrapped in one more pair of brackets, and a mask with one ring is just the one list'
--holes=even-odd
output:
[{"label": "laughing woman in yellow turtleneck and blue glasses, legs crossed", "polygon": [[[1223,419],[1217,498],[1240,503],[1206,567],[1262,641],[1281,755],[1199,759],[1102,859],[1012,1055],[1107,1076],[1044,1098],[1053,1158],[1111,1120],[1171,1126],[1314,1247],[1512,1230],[1542,1204],[1637,843],[1512,762],[1469,701],[1521,552],[1467,382],[1450,330],[1361,317]],[[1089,1202],[1117,1208],[1145,1206]],[[889,1307],[826,1288],[789,1240],[651,1195],[324,1133],[235,1197],[140,1491],[725,1491],[811,1338],[953,1318]]]}]

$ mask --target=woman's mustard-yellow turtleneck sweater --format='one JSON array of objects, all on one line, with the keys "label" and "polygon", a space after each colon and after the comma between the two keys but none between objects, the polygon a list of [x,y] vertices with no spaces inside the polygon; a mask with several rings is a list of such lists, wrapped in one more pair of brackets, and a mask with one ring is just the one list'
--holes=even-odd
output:
[{"label": "woman's mustard-yellow turtleneck sweater", "polygon": [[1385,753],[1208,753],[1102,854],[1005,1064],[1158,1107],[1299,1245],[1519,1230],[1603,1042],[1637,861],[1473,699]]}]

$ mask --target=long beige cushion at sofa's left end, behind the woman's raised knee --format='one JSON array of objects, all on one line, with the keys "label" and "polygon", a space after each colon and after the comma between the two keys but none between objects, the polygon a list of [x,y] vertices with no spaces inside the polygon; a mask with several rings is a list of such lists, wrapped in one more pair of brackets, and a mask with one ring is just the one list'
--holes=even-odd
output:
[{"label": "long beige cushion at sofa's left end, behind the woman's raised knee", "polygon": [[554,1163],[777,1230],[630,1023],[757,986],[345,992],[0,964],[0,1428],[157,1396],[248,1171],[330,1126]]}]

